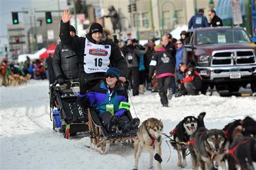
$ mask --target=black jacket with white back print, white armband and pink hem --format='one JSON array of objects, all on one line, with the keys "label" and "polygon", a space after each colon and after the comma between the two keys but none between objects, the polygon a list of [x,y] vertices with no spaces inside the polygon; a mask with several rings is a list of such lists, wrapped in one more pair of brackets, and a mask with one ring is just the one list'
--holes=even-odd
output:
[{"label": "black jacket with white back print, white armband and pink hem", "polygon": [[[154,64],[156,62],[156,65]],[[155,66],[154,66],[155,65]],[[174,74],[174,60],[171,57],[171,54],[168,52],[156,52],[153,54],[153,58],[149,66],[149,77],[153,76],[155,67],[157,75],[163,73],[173,73]]]}]

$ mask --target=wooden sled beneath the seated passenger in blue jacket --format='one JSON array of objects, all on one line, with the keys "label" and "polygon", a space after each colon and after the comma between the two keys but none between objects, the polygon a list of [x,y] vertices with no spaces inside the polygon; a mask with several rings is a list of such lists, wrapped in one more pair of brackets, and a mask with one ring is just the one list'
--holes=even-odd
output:
[{"label": "wooden sled beneath the seated passenger in blue jacket", "polygon": [[[127,111],[126,114],[128,118],[132,120],[131,113]],[[115,134],[109,134],[103,127],[94,108],[88,109],[88,126],[90,130],[91,146],[87,147],[93,148],[101,154],[106,154],[109,151],[110,143],[133,143],[134,137],[137,133],[137,129],[134,129],[134,131],[129,131],[126,133],[118,132]]]}]

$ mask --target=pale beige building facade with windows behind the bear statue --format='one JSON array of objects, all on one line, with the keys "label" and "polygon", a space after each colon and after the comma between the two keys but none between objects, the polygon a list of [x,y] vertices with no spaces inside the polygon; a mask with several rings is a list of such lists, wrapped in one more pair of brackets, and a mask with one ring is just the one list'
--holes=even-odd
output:
[{"label": "pale beige building facade with windows behind the bear statue", "polygon": [[[203,8],[205,16],[210,9],[208,0],[100,0],[100,4],[103,14],[107,14],[107,8],[113,5],[121,17],[122,31],[126,33],[135,30],[134,38],[140,39],[160,38],[163,33],[171,32],[176,26],[187,24],[195,14],[195,8]],[[130,4],[131,13],[128,12]],[[112,29],[109,18],[104,18],[104,26]]]}]

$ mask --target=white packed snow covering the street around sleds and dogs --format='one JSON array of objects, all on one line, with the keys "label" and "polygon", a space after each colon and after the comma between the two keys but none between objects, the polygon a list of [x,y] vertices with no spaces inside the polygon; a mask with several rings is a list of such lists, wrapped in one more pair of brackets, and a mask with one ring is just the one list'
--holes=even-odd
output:
[{"label": "white packed snow covering the street around sleds and dogs", "polygon": [[[162,119],[166,134],[184,116],[206,112],[207,128],[223,128],[233,119],[251,116],[256,119],[255,97],[220,97],[199,95],[172,98],[168,108],[162,107],[157,93],[146,92],[131,98],[141,122],[147,118]],[[133,116],[134,110],[131,109]],[[48,81],[30,81],[28,85],[1,87],[1,169],[132,169],[134,150],[121,143],[110,145],[101,155],[85,147],[88,137],[69,140],[53,132],[50,120]],[[164,139],[166,140],[166,139]],[[177,168],[177,152],[162,143],[162,168]],[[156,162],[154,161],[155,169]],[[138,168],[147,169],[149,154],[143,152]],[[192,169],[190,156],[187,167]]]}]

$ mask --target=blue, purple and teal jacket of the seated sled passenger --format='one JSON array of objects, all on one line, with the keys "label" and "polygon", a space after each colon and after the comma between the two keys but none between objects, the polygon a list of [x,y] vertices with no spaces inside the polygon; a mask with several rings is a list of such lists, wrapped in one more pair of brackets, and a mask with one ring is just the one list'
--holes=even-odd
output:
[{"label": "blue, purple and teal jacket of the seated sled passenger", "polygon": [[[119,88],[116,88],[112,91],[110,101],[110,94],[105,81],[102,81],[100,84],[96,85],[84,95],[88,99],[89,105],[94,107],[98,114],[103,114],[106,112],[106,104],[114,105],[114,113],[118,118],[127,112],[126,109],[119,109],[119,104],[121,101],[128,102],[128,96],[127,92],[125,92],[124,86],[120,86]],[[83,96],[79,94],[79,97]]]}]

